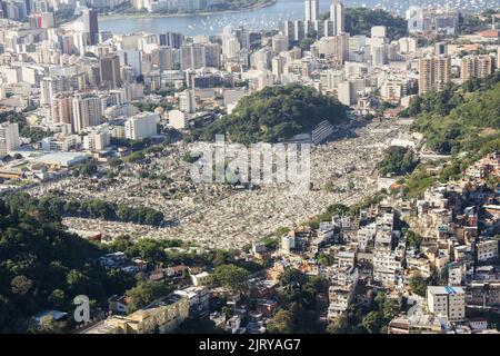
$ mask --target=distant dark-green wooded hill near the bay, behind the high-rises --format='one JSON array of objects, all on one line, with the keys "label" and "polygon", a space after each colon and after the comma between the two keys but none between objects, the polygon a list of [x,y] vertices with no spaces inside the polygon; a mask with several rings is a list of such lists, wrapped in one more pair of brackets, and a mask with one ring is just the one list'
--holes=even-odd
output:
[{"label": "distant dark-green wooded hill near the bay, behind the high-rises", "polygon": [[[407,20],[381,9],[346,8],[344,16],[346,32],[349,32],[351,36],[371,36],[373,26],[386,26],[387,37],[391,40],[400,39],[407,34]],[[329,17],[330,12],[322,16],[323,19]]]}]

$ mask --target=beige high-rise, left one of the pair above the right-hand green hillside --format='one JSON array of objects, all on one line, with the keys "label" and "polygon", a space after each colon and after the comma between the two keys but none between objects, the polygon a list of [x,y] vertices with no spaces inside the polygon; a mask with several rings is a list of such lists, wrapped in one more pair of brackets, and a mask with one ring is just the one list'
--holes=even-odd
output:
[{"label": "beige high-rise, left one of the pair above the right-hand green hillside", "polygon": [[451,59],[448,56],[429,56],[419,59],[419,93],[442,90],[451,80]]}]

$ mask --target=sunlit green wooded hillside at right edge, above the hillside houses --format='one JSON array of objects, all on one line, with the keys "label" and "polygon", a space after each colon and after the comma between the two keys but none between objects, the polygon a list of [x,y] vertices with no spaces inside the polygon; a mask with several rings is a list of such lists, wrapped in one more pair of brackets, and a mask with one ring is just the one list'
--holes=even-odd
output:
[{"label": "sunlit green wooded hillside at right edge, above the hillside houses", "polygon": [[500,72],[418,96],[403,112],[439,154],[477,152],[500,144]]}]

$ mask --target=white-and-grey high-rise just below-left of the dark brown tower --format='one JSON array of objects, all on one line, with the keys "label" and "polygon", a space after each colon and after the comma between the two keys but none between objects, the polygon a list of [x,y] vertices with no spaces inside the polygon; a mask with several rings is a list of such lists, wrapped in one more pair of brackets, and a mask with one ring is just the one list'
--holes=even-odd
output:
[{"label": "white-and-grey high-rise just below-left of the dark brown tower", "polygon": [[77,95],[72,101],[73,122],[71,128],[73,132],[80,132],[89,126],[101,123],[102,105],[101,99],[93,96]]}]

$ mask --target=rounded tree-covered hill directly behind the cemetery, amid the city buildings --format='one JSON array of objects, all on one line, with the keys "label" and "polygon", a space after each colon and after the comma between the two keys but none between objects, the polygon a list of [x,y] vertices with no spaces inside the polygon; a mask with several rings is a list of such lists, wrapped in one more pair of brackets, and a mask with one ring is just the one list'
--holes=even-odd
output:
[{"label": "rounded tree-covered hill directly behind the cemetery, amid the city buildings", "polygon": [[340,123],[346,108],[333,97],[300,85],[268,87],[242,98],[231,115],[209,125],[202,132],[204,140],[216,134],[240,144],[277,142],[310,131],[323,120]]}]

